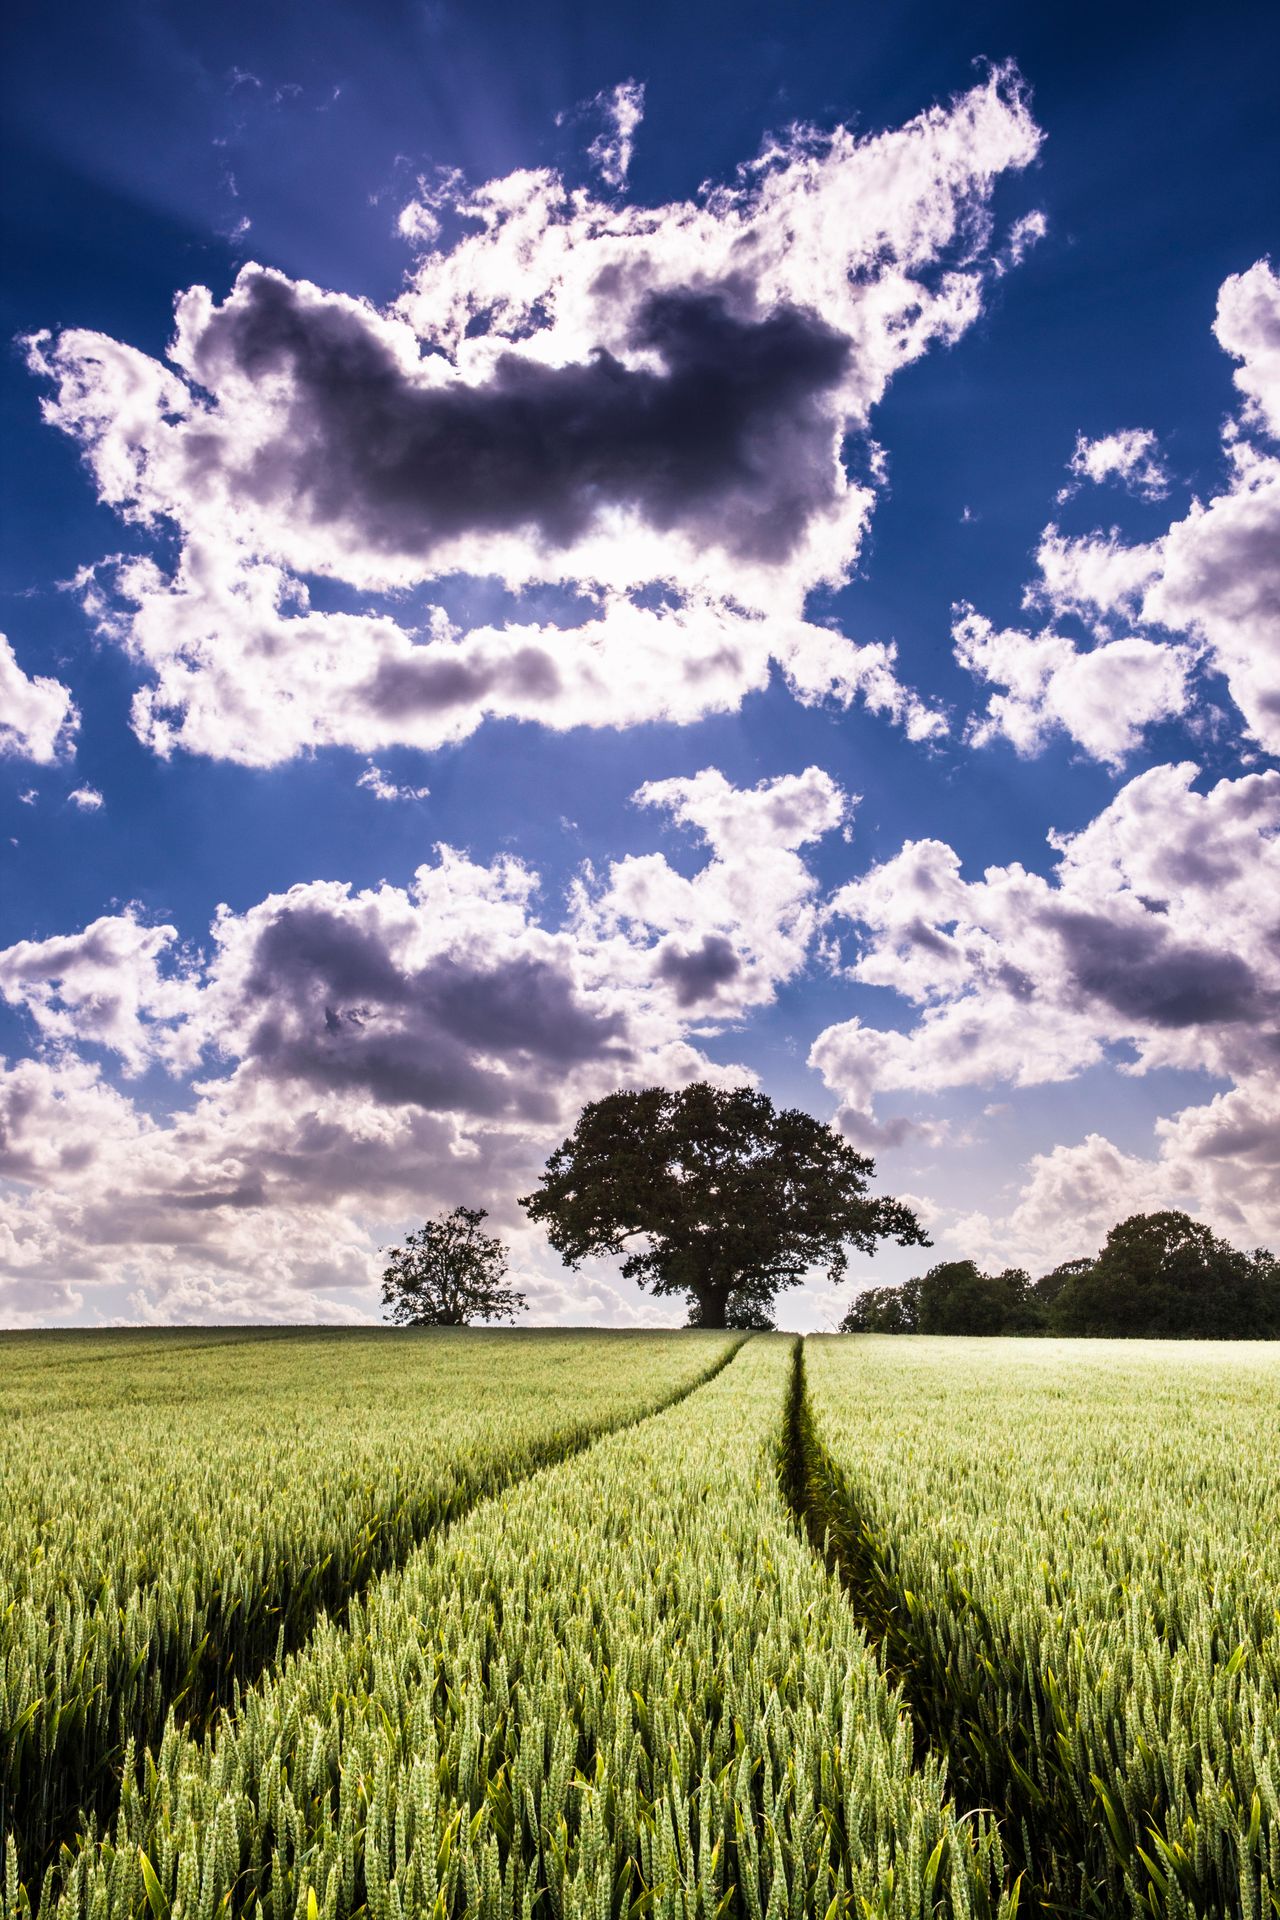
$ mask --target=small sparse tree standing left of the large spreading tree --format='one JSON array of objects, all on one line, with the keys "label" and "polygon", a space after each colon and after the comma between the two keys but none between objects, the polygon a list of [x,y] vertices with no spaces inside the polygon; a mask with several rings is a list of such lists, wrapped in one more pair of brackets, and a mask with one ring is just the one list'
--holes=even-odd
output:
[{"label": "small sparse tree standing left of the large spreading tree", "polygon": [[382,1304],[401,1327],[466,1327],[514,1319],[524,1294],[503,1286],[507,1248],[480,1231],[484,1208],[455,1206],[388,1250]]}]

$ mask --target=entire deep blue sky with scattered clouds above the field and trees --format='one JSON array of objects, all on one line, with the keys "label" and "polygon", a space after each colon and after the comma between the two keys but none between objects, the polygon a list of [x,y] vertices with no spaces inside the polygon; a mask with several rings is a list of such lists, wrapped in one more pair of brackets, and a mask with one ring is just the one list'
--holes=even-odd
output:
[{"label": "entire deep blue sky with scattered clouds above the field and trees", "polygon": [[[618,1087],[1280,1246],[1280,15],[19,4],[0,1325],[361,1321]],[[825,1327],[814,1273],[781,1323]]]}]

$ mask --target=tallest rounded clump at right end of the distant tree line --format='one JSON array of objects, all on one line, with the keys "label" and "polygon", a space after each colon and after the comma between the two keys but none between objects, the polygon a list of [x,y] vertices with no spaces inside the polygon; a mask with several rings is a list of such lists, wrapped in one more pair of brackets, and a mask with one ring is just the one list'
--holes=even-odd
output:
[{"label": "tallest rounded clump at right end of the distant tree line", "polygon": [[1242,1254],[1188,1213],[1134,1213],[1111,1229],[1098,1260],[1071,1267],[1050,1308],[1055,1332],[1280,1336],[1280,1263],[1265,1248]]}]

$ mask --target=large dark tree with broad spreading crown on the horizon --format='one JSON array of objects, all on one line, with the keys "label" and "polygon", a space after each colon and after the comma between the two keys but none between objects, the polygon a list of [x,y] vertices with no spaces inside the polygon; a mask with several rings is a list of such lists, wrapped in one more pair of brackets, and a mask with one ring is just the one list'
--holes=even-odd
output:
[{"label": "large dark tree with broad spreading crown on the horizon", "polygon": [[898,1200],[873,1198],[875,1162],[798,1108],[706,1081],[614,1092],[574,1133],[520,1206],[570,1267],[624,1254],[654,1294],[687,1294],[699,1327],[768,1325],[773,1296],[848,1248],[927,1246]]}]

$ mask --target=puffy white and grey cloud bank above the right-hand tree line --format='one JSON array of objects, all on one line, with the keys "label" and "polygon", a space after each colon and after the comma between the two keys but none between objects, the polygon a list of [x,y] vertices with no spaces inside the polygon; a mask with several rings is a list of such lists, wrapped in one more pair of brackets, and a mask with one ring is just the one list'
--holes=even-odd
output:
[{"label": "puffy white and grey cloud bank above the right-hand tree line", "polygon": [[814,1043],[854,1125],[881,1092],[1034,1087],[1102,1062],[1274,1081],[1280,774],[1201,795],[1196,772],[1128,781],[1055,837],[1052,879],[1021,866],[965,879],[944,841],[913,841],[833,897],[831,916],[864,929],[850,977],[919,1010],[906,1031],[848,1020]]}]

